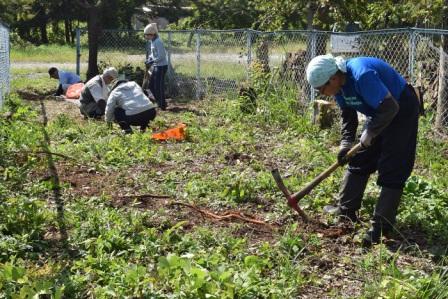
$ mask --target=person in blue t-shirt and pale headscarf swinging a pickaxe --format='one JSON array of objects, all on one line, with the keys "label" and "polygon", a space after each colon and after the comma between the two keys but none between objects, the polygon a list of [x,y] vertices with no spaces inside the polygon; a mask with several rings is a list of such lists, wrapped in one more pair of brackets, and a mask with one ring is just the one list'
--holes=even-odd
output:
[{"label": "person in blue t-shirt and pale headscarf swinging a pickaxe", "polygon": [[363,245],[378,243],[382,234],[393,229],[403,187],[414,167],[419,100],[394,68],[374,57],[317,56],[308,64],[306,76],[315,90],[333,96],[342,110],[341,165],[347,163],[344,157],[356,139],[357,113],[367,118],[360,137],[362,149],[348,161],[333,212],[340,219],[357,221],[369,176],[378,171],[381,193]]}]

